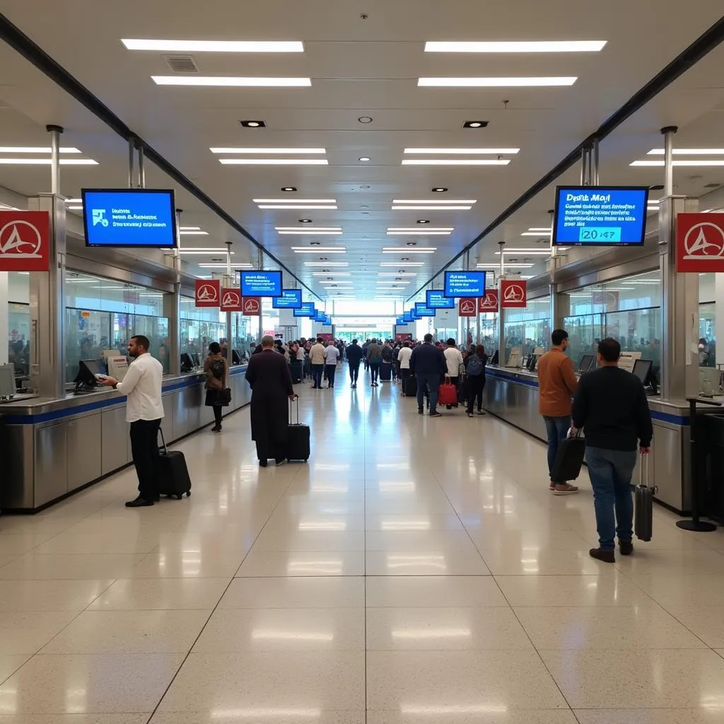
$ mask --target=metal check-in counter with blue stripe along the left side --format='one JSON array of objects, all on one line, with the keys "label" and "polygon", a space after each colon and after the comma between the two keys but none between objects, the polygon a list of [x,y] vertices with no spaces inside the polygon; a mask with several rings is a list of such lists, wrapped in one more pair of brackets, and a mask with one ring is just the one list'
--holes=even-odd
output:
[{"label": "metal check-in counter with blue stripe along the left side", "polygon": [[[251,401],[246,366],[232,366],[228,414]],[[204,405],[203,372],[166,376],[166,442],[214,421]],[[0,510],[39,510],[131,462],[126,398],[104,388],[62,400],[30,397],[0,403]]]}]

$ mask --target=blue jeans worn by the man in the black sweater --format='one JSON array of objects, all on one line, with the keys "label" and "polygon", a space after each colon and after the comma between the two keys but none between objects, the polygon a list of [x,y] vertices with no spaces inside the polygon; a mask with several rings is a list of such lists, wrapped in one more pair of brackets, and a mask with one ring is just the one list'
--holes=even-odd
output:
[{"label": "blue jeans worn by the man in the black sweater", "polygon": [[636,450],[586,447],[586,465],[593,488],[599,546],[601,550],[614,550],[614,534],[618,542],[624,543],[631,542],[633,537],[631,475],[636,466]]}]

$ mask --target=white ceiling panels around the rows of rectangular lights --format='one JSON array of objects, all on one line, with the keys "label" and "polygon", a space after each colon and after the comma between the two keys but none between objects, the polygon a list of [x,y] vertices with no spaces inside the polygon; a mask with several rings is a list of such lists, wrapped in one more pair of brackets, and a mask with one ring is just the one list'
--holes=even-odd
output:
[{"label": "white ceiling panels around the rows of rectangular lights", "polygon": [[[721,15],[720,0],[698,0],[696,12],[658,0],[571,4],[563,0],[266,0],[260,4],[216,0],[191,4],[93,0],[49,4],[5,0],[3,12],[22,32],[62,64],[141,138],[190,177],[240,224],[321,296],[306,261],[348,261],[345,271],[357,298],[375,295],[377,273],[416,271],[400,287],[404,296],[441,269],[510,203],[544,176],[633,93],[647,83]],[[360,15],[368,15],[363,20]],[[622,22],[622,18],[626,22]],[[151,75],[170,75],[162,54],[128,51],[119,38],[206,40],[300,40],[303,54],[194,55],[202,75],[308,76],[311,88],[160,87]],[[608,43],[600,53],[555,55],[425,54],[427,40],[581,40]],[[724,49],[713,51],[601,145],[602,182],[656,184],[662,170],[631,168],[634,159],[660,146],[658,130],[678,125],[678,146],[723,147]],[[421,76],[576,75],[568,88],[418,88]],[[123,186],[127,144],[9,46],[0,46],[0,146],[48,144],[48,123],[66,129],[63,145],[77,146],[96,167],[64,167],[62,191]],[[508,101],[507,104],[504,101]],[[360,116],[373,121],[363,125]],[[240,119],[263,119],[264,129],[240,127]],[[466,120],[489,121],[463,129]],[[222,166],[210,147],[321,147],[328,166]],[[407,147],[520,148],[508,166],[402,166]],[[298,156],[298,154],[295,154]],[[371,161],[362,163],[360,156]],[[445,157],[445,156],[442,156]],[[571,171],[560,182],[577,182]],[[168,188],[169,179],[147,164],[148,186]],[[722,169],[678,169],[677,191],[705,193],[724,182]],[[0,185],[32,195],[49,190],[46,167],[0,166]],[[253,198],[335,198],[336,211],[261,210]],[[364,188],[369,186],[369,188]],[[445,194],[433,194],[436,186]],[[392,199],[477,199],[471,211],[391,211]],[[531,247],[521,237],[544,227],[552,188],[539,194],[473,250],[471,261],[495,261],[497,242]],[[177,188],[185,209],[182,224],[209,236],[184,237],[194,247],[234,242],[235,262],[256,261],[256,251],[235,230],[190,194]],[[342,236],[278,235],[274,227],[342,227]],[[449,236],[388,236],[388,227],[454,227]],[[295,254],[290,247],[319,240],[344,245],[346,254]],[[432,255],[382,254],[383,246],[416,241]],[[424,266],[406,266],[402,256]],[[194,261],[210,261],[194,257]],[[522,261],[522,257],[521,257]],[[538,261],[531,259],[531,261]],[[319,271],[319,268],[314,269]],[[193,271],[193,269],[192,269]],[[199,271],[198,273],[201,273]],[[525,271],[523,273],[529,273]],[[333,276],[330,274],[329,276]],[[390,277],[384,277],[390,279]],[[347,278],[350,280],[350,277]]]}]

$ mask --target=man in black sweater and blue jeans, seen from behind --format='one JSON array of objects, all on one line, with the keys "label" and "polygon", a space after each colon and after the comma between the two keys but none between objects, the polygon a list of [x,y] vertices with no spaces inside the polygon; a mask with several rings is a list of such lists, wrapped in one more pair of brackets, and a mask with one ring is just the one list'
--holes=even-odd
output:
[{"label": "man in black sweater and blue jeans, seen from behind", "polygon": [[607,337],[598,343],[598,369],[581,377],[572,411],[573,430],[586,434],[599,537],[599,547],[589,553],[605,563],[615,563],[614,536],[621,555],[633,553],[631,476],[636,446],[641,455],[649,455],[654,434],[644,384],[620,369],[620,355],[617,340]]}]

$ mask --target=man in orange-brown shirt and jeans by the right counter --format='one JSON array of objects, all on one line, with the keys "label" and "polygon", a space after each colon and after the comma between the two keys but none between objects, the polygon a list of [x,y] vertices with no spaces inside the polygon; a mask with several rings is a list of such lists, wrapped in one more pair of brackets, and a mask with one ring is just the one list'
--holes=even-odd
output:
[{"label": "man in orange-brown shirt and jeans by the right counter", "polygon": [[573,362],[565,355],[568,332],[554,329],[550,340],[550,351],[538,361],[539,411],[548,437],[550,489],[556,495],[570,495],[577,493],[578,488],[565,480],[554,480],[552,475],[558,446],[571,427],[571,397],[578,387],[578,379],[573,371]]}]

